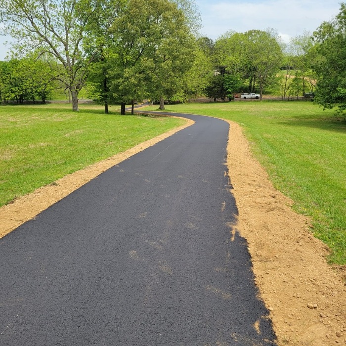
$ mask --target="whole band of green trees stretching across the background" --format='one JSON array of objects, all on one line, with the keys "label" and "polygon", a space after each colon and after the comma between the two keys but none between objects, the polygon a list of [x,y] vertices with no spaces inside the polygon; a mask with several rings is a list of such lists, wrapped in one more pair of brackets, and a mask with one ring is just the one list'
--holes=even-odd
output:
[{"label": "whole band of green trees stretching across the background", "polygon": [[78,110],[85,87],[106,113],[119,102],[124,114],[125,104],[147,97],[164,108],[167,98],[258,91],[261,99],[279,87],[282,98],[316,91],[323,106],[346,108],[345,4],[289,45],[273,29],[198,38],[193,0],[0,0],[0,21],[17,39],[14,51],[27,56],[0,65],[2,99],[44,101],[58,86]]}]

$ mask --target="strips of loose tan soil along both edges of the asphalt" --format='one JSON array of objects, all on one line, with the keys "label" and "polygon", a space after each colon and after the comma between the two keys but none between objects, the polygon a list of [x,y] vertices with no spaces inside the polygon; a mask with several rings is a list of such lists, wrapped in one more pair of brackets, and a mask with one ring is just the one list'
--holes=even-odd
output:
[{"label": "strips of loose tan soil along both edges of the asphalt", "polygon": [[[0,208],[0,237],[34,218],[110,167],[186,125],[122,154],[69,174]],[[249,244],[259,296],[267,305],[279,346],[346,345],[346,284],[327,264],[326,246],[313,237],[309,219],[291,209],[251,154],[241,127],[230,123],[228,170],[239,215],[235,228]],[[254,326],[260,333],[260,325]]]}]

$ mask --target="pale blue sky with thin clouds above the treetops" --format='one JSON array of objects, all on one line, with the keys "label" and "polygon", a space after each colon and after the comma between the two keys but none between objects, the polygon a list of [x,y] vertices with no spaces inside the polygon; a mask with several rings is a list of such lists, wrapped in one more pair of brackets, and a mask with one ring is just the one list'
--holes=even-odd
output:
[{"label": "pale blue sky with thin clouds above the treetops", "polygon": [[[340,0],[196,0],[202,15],[202,32],[215,40],[228,30],[245,32],[273,28],[289,42],[304,31],[313,32],[334,17]],[[8,40],[8,38],[7,38]],[[0,37],[0,60],[6,56],[6,38]]]}]

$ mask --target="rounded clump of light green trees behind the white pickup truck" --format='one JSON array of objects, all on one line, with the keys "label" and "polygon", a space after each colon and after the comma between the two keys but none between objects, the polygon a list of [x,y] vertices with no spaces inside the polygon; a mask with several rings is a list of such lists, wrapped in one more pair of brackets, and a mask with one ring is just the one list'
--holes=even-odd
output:
[{"label": "rounded clump of light green trees behind the white pickup truck", "polygon": [[250,92],[257,88],[262,99],[264,89],[276,81],[283,60],[283,46],[273,29],[228,32],[211,48],[216,70],[207,91],[214,98],[231,97],[240,88]]}]

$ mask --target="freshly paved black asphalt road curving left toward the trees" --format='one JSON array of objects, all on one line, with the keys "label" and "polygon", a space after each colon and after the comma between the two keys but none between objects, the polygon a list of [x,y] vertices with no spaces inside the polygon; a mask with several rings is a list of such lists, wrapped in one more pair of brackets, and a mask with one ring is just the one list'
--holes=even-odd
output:
[{"label": "freshly paved black asphalt road curving left toward the trees", "polygon": [[229,125],[181,116],[0,240],[0,345],[274,345],[233,228]]}]

